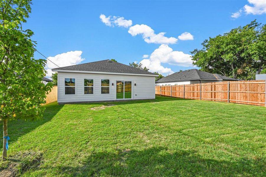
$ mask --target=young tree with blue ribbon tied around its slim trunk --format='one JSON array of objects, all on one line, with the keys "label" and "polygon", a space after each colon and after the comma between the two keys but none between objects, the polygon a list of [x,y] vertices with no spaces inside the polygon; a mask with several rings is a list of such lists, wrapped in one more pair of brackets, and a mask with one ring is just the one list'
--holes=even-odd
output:
[{"label": "young tree with blue ribbon tied around its slim trunk", "polygon": [[1,1],[0,5],[0,119],[3,121],[3,154],[7,158],[7,121],[42,117],[45,94],[52,83],[42,83],[45,60],[35,60],[31,30],[22,30],[31,12],[30,0]]}]

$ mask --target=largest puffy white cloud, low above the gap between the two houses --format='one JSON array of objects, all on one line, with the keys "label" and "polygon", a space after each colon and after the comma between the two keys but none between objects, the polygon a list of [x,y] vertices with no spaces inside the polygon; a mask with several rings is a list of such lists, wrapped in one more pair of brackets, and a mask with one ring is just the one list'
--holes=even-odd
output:
[{"label": "largest puffy white cloud, low above the gap between the two houses", "polygon": [[159,72],[166,75],[174,72],[171,68],[164,68],[161,63],[178,66],[192,66],[191,55],[180,51],[173,51],[171,47],[165,44],[162,44],[159,48],[155,49],[150,55],[150,58],[143,59],[139,63],[142,63],[143,67],[146,66],[149,68],[150,72]]}]

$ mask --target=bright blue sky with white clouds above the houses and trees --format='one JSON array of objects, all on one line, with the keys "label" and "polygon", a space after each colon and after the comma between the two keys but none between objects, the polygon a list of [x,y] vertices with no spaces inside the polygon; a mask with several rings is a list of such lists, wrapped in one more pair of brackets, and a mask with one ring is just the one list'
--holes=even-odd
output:
[{"label": "bright blue sky with white clouds above the houses and trees", "polygon": [[[127,65],[142,61],[167,75],[194,68],[189,52],[208,37],[254,19],[265,23],[265,1],[253,1],[33,1],[24,29],[35,33],[37,50],[60,67],[114,58]],[[111,16],[110,23],[101,14]],[[119,17],[124,19],[116,22]],[[184,32],[190,40],[178,38]],[[48,77],[55,67],[47,63]]]}]

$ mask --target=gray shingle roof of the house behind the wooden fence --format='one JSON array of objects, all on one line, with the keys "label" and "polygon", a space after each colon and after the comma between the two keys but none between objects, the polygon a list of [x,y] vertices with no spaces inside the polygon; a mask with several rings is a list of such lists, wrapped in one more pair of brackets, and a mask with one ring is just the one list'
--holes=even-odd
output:
[{"label": "gray shingle roof of the house behind the wooden fence", "polygon": [[156,83],[162,82],[178,82],[178,81],[193,81],[193,80],[225,80],[225,81],[238,81],[237,79],[222,76],[220,74],[212,74],[205,71],[199,71],[198,69],[190,69],[186,71],[180,71],[173,73],[169,76],[163,77],[156,81]]}]

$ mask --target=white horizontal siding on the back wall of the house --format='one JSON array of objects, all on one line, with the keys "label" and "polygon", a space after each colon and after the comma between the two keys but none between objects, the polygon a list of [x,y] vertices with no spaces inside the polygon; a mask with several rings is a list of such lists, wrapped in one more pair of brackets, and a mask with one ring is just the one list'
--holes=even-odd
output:
[{"label": "white horizontal siding on the back wall of the house", "polygon": [[[75,95],[65,95],[65,78],[75,78]],[[84,94],[87,78],[93,78],[93,94]],[[101,94],[101,79],[110,80],[110,94]],[[116,100],[116,81],[132,81],[132,99],[155,99],[155,76],[58,72],[58,102]]]}]

